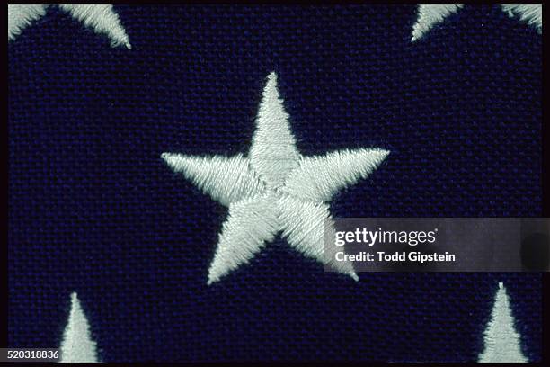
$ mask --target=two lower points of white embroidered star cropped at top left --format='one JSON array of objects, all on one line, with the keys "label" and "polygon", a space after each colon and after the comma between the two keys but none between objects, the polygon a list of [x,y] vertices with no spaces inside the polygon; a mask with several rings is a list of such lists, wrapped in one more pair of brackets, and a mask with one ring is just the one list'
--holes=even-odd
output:
[{"label": "two lower points of white embroidered star cropped at top left", "polygon": [[[21,5],[8,4],[8,41],[15,38],[34,22],[46,14],[49,6],[54,5]],[[112,10],[112,5],[55,5],[69,13],[77,21],[93,28],[97,33],[102,33],[111,38],[111,46],[124,45],[131,49],[128,35],[117,13]]]}]

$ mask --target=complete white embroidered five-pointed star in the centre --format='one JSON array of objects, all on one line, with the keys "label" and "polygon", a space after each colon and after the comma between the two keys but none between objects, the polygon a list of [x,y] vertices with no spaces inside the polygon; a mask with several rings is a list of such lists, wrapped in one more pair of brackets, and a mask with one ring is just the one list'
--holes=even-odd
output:
[{"label": "complete white embroidered five-pointed star in the centre", "polygon": [[[359,148],[302,156],[279,98],[277,76],[271,73],[247,157],[175,153],[162,157],[174,172],[229,208],[208,271],[211,284],[250,261],[279,232],[289,246],[327,264],[324,220],[331,218],[328,202],[336,192],[366,178],[388,153]],[[350,263],[329,261],[327,265],[358,280]]]}]

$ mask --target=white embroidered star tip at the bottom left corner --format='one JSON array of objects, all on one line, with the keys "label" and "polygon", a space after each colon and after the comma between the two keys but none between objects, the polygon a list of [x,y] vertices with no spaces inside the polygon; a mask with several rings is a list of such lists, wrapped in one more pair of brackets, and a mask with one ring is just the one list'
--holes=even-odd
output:
[{"label": "white embroidered star tip at the bottom left corner", "polygon": [[98,362],[96,344],[75,292],[71,294],[71,311],[59,347],[60,362]]}]

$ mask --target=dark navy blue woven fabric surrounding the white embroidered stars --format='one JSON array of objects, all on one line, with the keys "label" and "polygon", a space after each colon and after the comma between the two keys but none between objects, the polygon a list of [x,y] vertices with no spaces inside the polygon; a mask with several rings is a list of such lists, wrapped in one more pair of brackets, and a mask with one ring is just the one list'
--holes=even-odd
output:
[{"label": "dark navy blue woven fabric surrounding the white embroidered stars", "polygon": [[[475,361],[498,282],[541,356],[537,273],[324,273],[275,240],[212,286],[227,210],[160,155],[250,146],[275,71],[304,155],[386,148],[334,217],[540,216],[542,38],[466,6],[115,6],[133,49],[52,8],[10,43],[10,346],[78,293],[103,361]],[[467,244],[465,244],[467,246]]]}]

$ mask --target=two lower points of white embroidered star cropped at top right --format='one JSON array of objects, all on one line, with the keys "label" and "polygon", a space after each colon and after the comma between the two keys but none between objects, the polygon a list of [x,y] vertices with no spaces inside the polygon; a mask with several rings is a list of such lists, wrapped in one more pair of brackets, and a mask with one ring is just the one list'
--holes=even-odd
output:
[{"label": "two lower points of white embroidered star cropped at top right", "polygon": [[[412,27],[412,42],[420,40],[436,24],[443,22],[452,13],[462,9],[462,4],[418,5],[418,20]],[[503,12],[510,18],[519,16],[519,20],[535,26],[542,33],[542,5],[540,4],[501,4]]]}]

